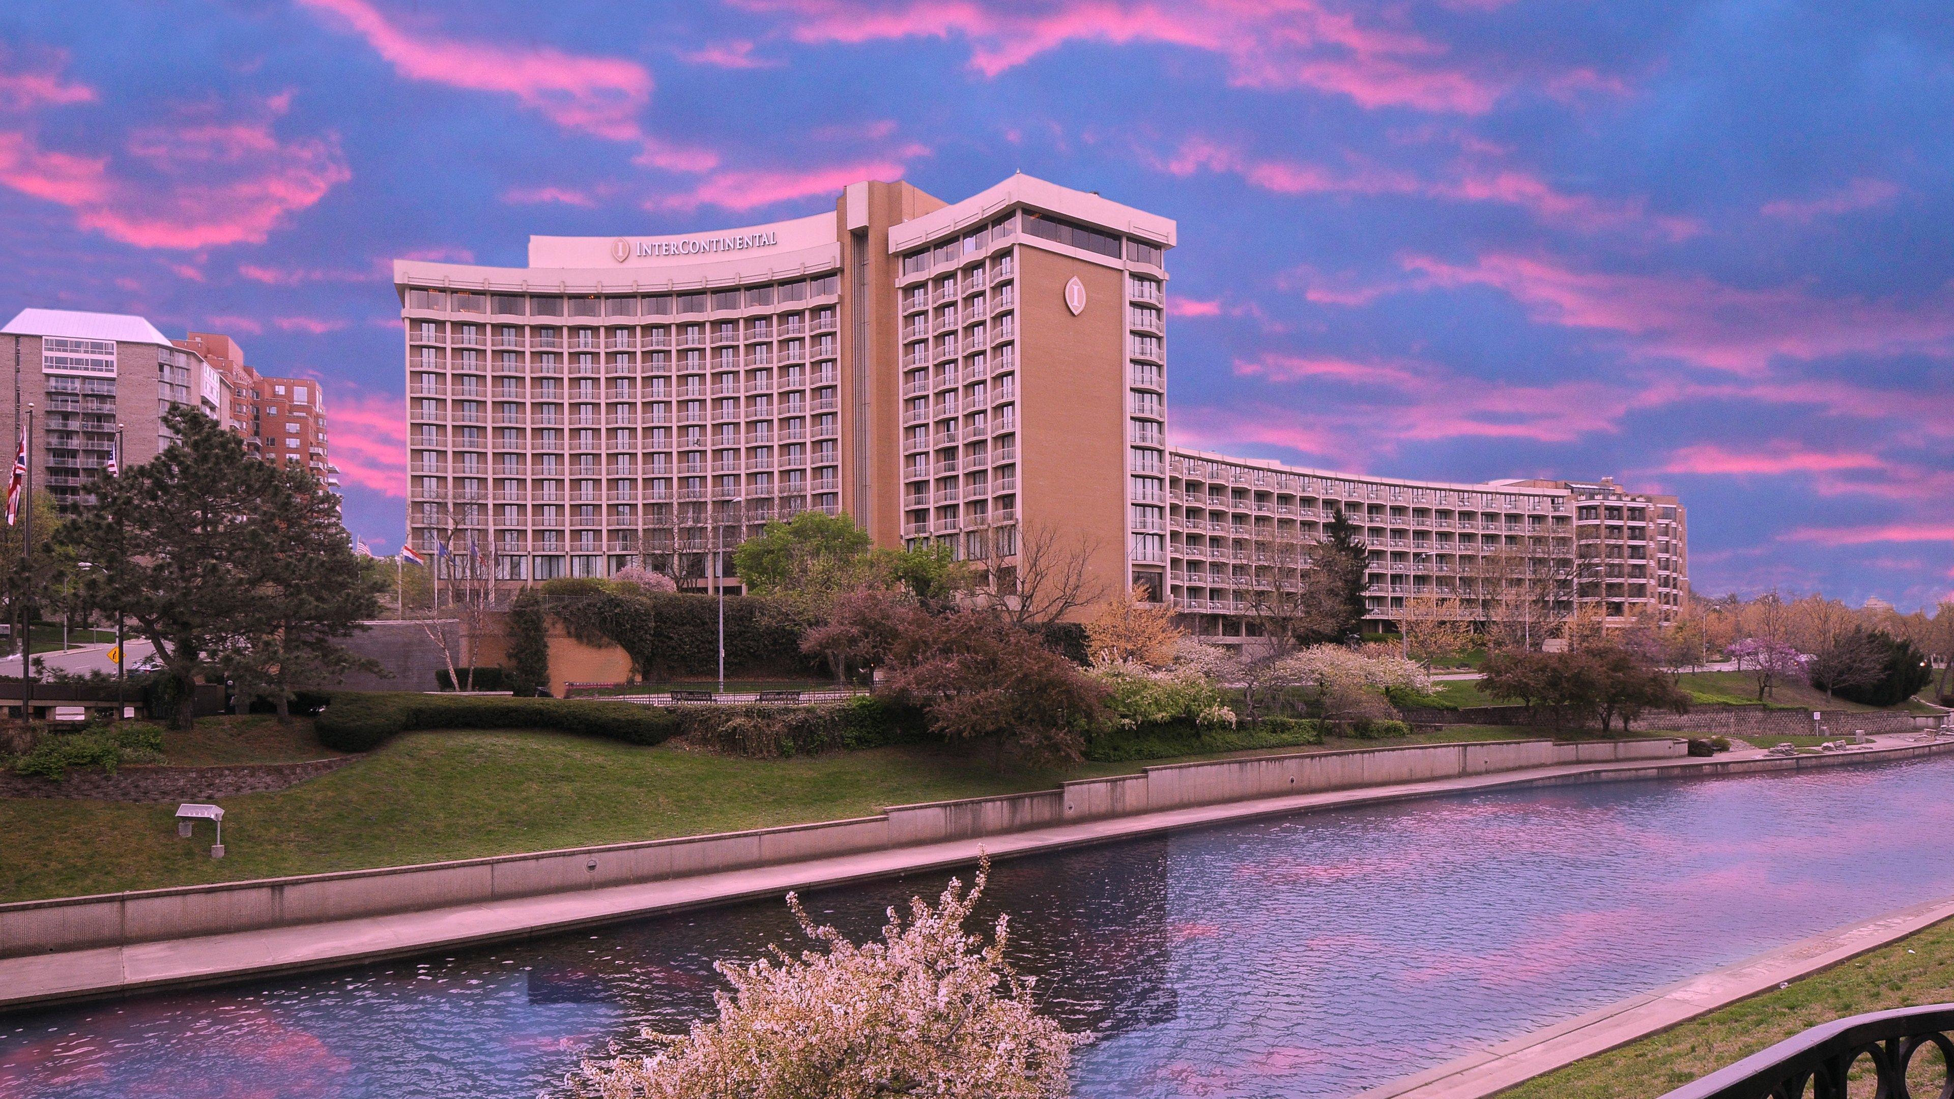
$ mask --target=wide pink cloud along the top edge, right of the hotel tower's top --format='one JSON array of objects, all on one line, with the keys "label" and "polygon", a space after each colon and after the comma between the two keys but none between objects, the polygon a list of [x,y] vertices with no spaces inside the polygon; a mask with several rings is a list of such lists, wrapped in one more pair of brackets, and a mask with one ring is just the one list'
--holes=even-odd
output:
[{"label": "wide pink cloud along the top edge, right of the hotel tower's top", "polygon": [[[1229,78],[1254,88],[1311,88],[1364,108],[1483,113],[1507,80],[1467,72],[1448,49],[1409,29],[1360,23],[1319,0],[1129,4],[1059,0],[741,0],[782,16],[797,41],[963,39],[971,66],[997,76],[1071,43],[1170,45],[1213,53]],[[1395,10],[1385,18],[1401,20]]]}]

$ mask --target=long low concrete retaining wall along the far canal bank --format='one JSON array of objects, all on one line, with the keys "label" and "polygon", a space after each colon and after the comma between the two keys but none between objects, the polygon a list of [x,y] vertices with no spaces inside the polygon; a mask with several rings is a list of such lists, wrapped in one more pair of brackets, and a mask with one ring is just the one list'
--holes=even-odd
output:
[{"label": "long low concrete retaining wall along the far canal bank", "polygon": [[1534,739],[1221,759],[1149,767],[1139,774],[1088,778],[1032,794],[891,806],[879,815],[844,821],[18,901],[0,905],[0,958],[600,890],[1188,806],[1684,755],[1686,743],[1678,739],[1561,745]]}]

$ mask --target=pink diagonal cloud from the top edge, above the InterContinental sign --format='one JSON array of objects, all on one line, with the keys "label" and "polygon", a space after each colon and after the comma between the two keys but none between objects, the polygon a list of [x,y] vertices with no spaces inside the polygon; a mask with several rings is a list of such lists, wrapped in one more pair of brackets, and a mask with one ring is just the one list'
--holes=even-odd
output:
[{"label": "pink diagonal cloud from the top edge, above the InterContinental sign", "polygon": [[643,131],[637,119],[651,104],[653,80],[635,61],[446,39],[426,27],[403,29],[365,0],[299,2],[336,18],[408,80],[514,96],[563,129],[637,143],[639,160],[658,168],[703,172],[719,162],[713,153]]}]

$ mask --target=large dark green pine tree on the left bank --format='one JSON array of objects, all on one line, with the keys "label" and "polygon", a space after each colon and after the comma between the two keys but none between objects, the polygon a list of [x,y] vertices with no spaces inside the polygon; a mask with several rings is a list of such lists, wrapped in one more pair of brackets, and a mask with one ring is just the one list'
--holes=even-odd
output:
[{"label": "large dark green pine tree on the left bank", "polygon": [[344,665],[332,639],[379,604],[338,501],[311,473],[252,458],[195,409],[172,409],[164,424],[178,440],[104,481],[96,508],[66,524],[61,542],[90,563],[80,571],[86,606],[127,616],[156,647],[172,725],[188,729],[199,679],[229,671],[252,690],[285,692],[301,665]]}]

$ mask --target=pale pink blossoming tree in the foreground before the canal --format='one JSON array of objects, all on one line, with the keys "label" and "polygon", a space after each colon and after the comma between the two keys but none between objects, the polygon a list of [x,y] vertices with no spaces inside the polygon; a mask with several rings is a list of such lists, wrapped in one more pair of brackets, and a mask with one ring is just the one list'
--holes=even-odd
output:
[{"label": "pale pink blossoming tree in the foreground before the canal", "polygon": [[989,874],[987,858],[967,896],[952,878],[936,907],[913,898],[907,925],[891,907],[881,943],[860,946],[787,894],[825,950],[719,962],[719,1019],[647,1031],[664,1050],[586,1062],[573,1083],[602,1099],[1061,1099],[1084,1038],[1040,1015],[1034,978],[1004,960],[1008,917],[989,943],[963,931]]}]

